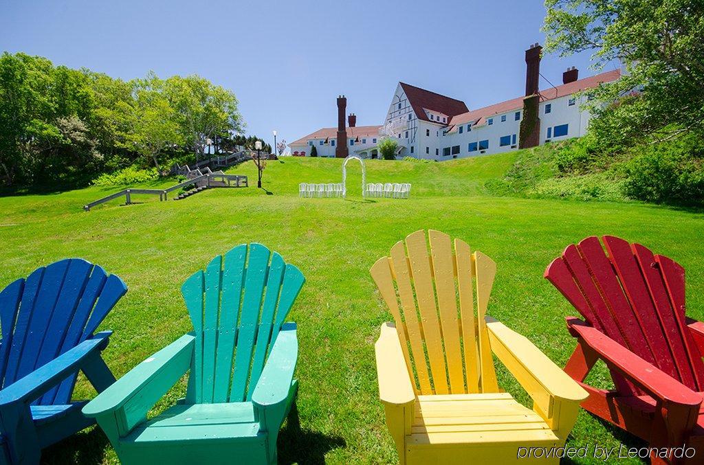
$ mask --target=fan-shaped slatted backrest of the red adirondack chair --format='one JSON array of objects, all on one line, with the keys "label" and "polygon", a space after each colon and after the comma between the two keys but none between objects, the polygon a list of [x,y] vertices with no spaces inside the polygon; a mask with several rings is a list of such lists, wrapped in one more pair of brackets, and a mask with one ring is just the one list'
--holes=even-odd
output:
[{"label": "fan-shaped slatted backrest of the red adirondack chair", "polygon": [[[639,244],[613,236],[605,236],[603,243],[606,250],[596,237],[567,247],[548,266],[546,278],[589,324],[689,388],[701,390],[704,364],[684,323],[684,307],[679,312],[673,303],[681,299],[684,305],[684,270],[663,267],[662,260]],[[675,285],[677,298],[667,286],[669,279],[681,283]],[[612,378],[624,395],[643,393],[619,374],[612,372]]]}]

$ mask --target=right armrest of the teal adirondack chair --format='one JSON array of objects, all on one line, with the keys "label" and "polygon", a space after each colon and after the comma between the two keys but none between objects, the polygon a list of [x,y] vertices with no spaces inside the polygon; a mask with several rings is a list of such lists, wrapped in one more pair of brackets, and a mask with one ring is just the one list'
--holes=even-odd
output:
[{"label": "right armrest of the teal adirondack chair", "polygon": [[252,402],[256,407],[266,408],[288,399],[297,361],[296,324],[287,323],[282,326],[254,388]]}]

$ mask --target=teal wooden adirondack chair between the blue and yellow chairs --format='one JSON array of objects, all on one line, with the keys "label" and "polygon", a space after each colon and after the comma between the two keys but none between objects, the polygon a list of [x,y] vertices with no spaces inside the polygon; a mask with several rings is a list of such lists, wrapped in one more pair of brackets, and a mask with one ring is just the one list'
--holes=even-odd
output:
[{"label": "teal wooden adirondack chair between the blue and yellow chairs", "polygon": [[[258,243],[215,257],[182,286],[195,331],[134,367],[83,409],[124,464],[270,464],[296,397],[303,274]],[[186,397],[147,420],[190,369]]]}]

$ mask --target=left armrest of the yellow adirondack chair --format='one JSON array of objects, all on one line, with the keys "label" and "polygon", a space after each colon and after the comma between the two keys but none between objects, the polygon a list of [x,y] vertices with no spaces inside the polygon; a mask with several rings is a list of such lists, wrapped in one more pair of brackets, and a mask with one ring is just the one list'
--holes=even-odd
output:
[{"label": "left armrest of the yellow adirondack chair", "polygon": [[415,402],[406,359],[393,323],[382,324],[382,333],[374,345],[379,378],[379,398],[384,404],[406,405]]}]

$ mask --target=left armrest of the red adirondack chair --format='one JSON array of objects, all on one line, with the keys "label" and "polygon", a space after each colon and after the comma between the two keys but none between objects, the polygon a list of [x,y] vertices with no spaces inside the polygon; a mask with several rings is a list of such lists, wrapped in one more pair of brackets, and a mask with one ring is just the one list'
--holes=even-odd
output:
[{"label": "left armrest of the red adirondack chair", "polygon": [[610,369],[625,376],[656,400],[693,408],[698,408],[701,404],[701,394],[695,393],[598,329],[574,317],[567,318],[567,326],[570,333],[594,350]]}]

